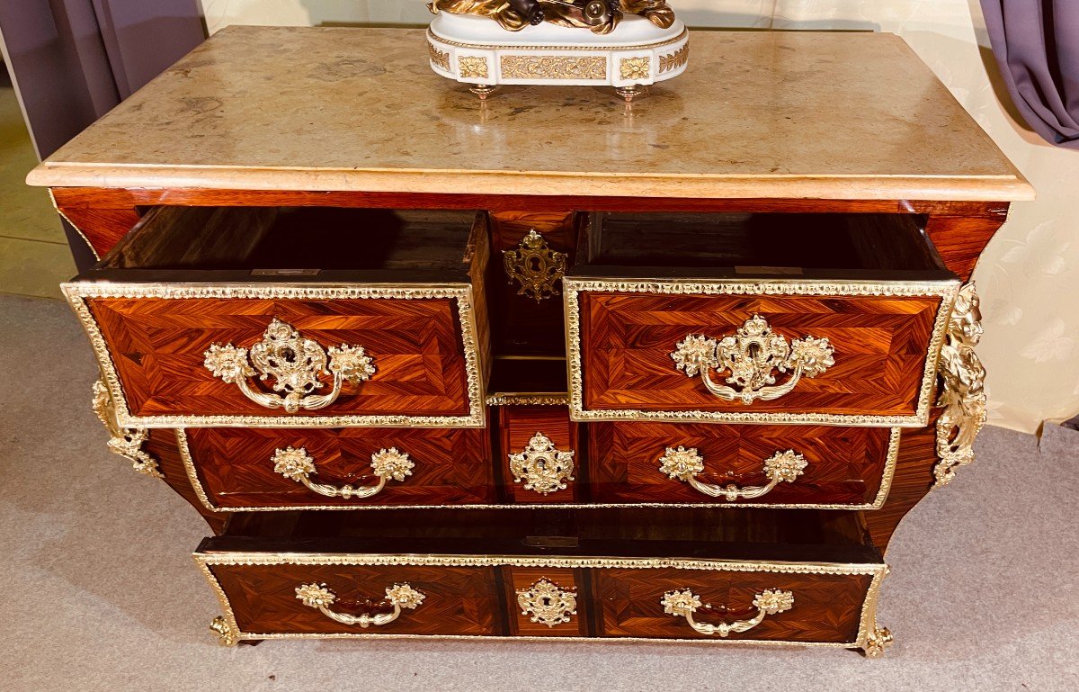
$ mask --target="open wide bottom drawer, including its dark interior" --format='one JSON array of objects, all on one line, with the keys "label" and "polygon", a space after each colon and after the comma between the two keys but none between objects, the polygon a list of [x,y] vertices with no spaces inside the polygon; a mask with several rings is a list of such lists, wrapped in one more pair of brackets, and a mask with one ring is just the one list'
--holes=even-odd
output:
[{"label": "open wide bottom drawer, including its dark interior", "polygon": [[887,566],[858,542],[856,515],[829,514],[251,515],[206,539],[195,560],[221,600],[214,628],[229,644],[470,636],[869,650]]}]

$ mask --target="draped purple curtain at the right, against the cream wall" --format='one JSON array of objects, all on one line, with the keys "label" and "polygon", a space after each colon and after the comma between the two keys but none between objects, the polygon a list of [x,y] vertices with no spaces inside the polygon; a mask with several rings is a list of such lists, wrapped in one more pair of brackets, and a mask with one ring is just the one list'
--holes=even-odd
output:
[{"label": "draped purple curtain at the right, against the cream wall", "polygon": [[1079,149],[1079,0],[982,0],[1008,92],[1046,141]]}]

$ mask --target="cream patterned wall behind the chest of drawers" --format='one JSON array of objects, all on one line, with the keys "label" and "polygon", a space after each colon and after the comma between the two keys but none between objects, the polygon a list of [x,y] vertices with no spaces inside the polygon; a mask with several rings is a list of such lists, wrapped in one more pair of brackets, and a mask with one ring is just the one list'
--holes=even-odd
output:
[{"label": "cream patterned wall behind the chest of drawers", "polygon": [[[424,23],[421,0],[203,0],[210,31],[229,24]],[[980,349],[991,421],[1033,432],[1079,413],[1079,152],[1051,147],[997,99],[978,0],[671,0],[691,26],[891,31],[947,84],[1030,179],[978,267]],[[987,69],[986,63],[989,63]]]}]

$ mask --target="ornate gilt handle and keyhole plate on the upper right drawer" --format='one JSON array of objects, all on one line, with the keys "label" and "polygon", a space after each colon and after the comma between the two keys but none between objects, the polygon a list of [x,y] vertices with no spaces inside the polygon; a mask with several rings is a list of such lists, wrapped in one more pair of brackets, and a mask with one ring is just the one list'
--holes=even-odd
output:
[{"label": "ornate gilt handle and keyhole plate on the upper right drawer", "polygon": [[[691,334],[670,355],[674,367],[684,370],[686,377],[699,372],[705,386],[715,396],[749,405],[756,399],[777,399],[790,393],[803,377],[817,377],[835,365],[833,353],[828,339],[805,337],[788,343],[782,336],[773,333],[767,320],[753,315],[739,327],[736,336],[716,340]],[[713,382],[709,375],[713,369],[730,370],[726,381],[735,386]],[[776,370],[790,370],[790,379],[775,385]]]}]

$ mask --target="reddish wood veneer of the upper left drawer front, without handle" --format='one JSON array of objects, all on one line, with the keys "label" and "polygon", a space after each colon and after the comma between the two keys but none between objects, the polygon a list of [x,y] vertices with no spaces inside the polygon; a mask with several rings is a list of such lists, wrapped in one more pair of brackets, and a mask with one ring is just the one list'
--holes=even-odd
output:
[{"label": "reddish wood veneer of the upper left drawer front, without handle", "polygon": [[[467,375],[453,299],[90,299],[133,416],[467,415]],[[248,399],[204,365],[214,343],[250,348],[271,320],[324,348],[363,345],[378,371],[316,411]]]}]

